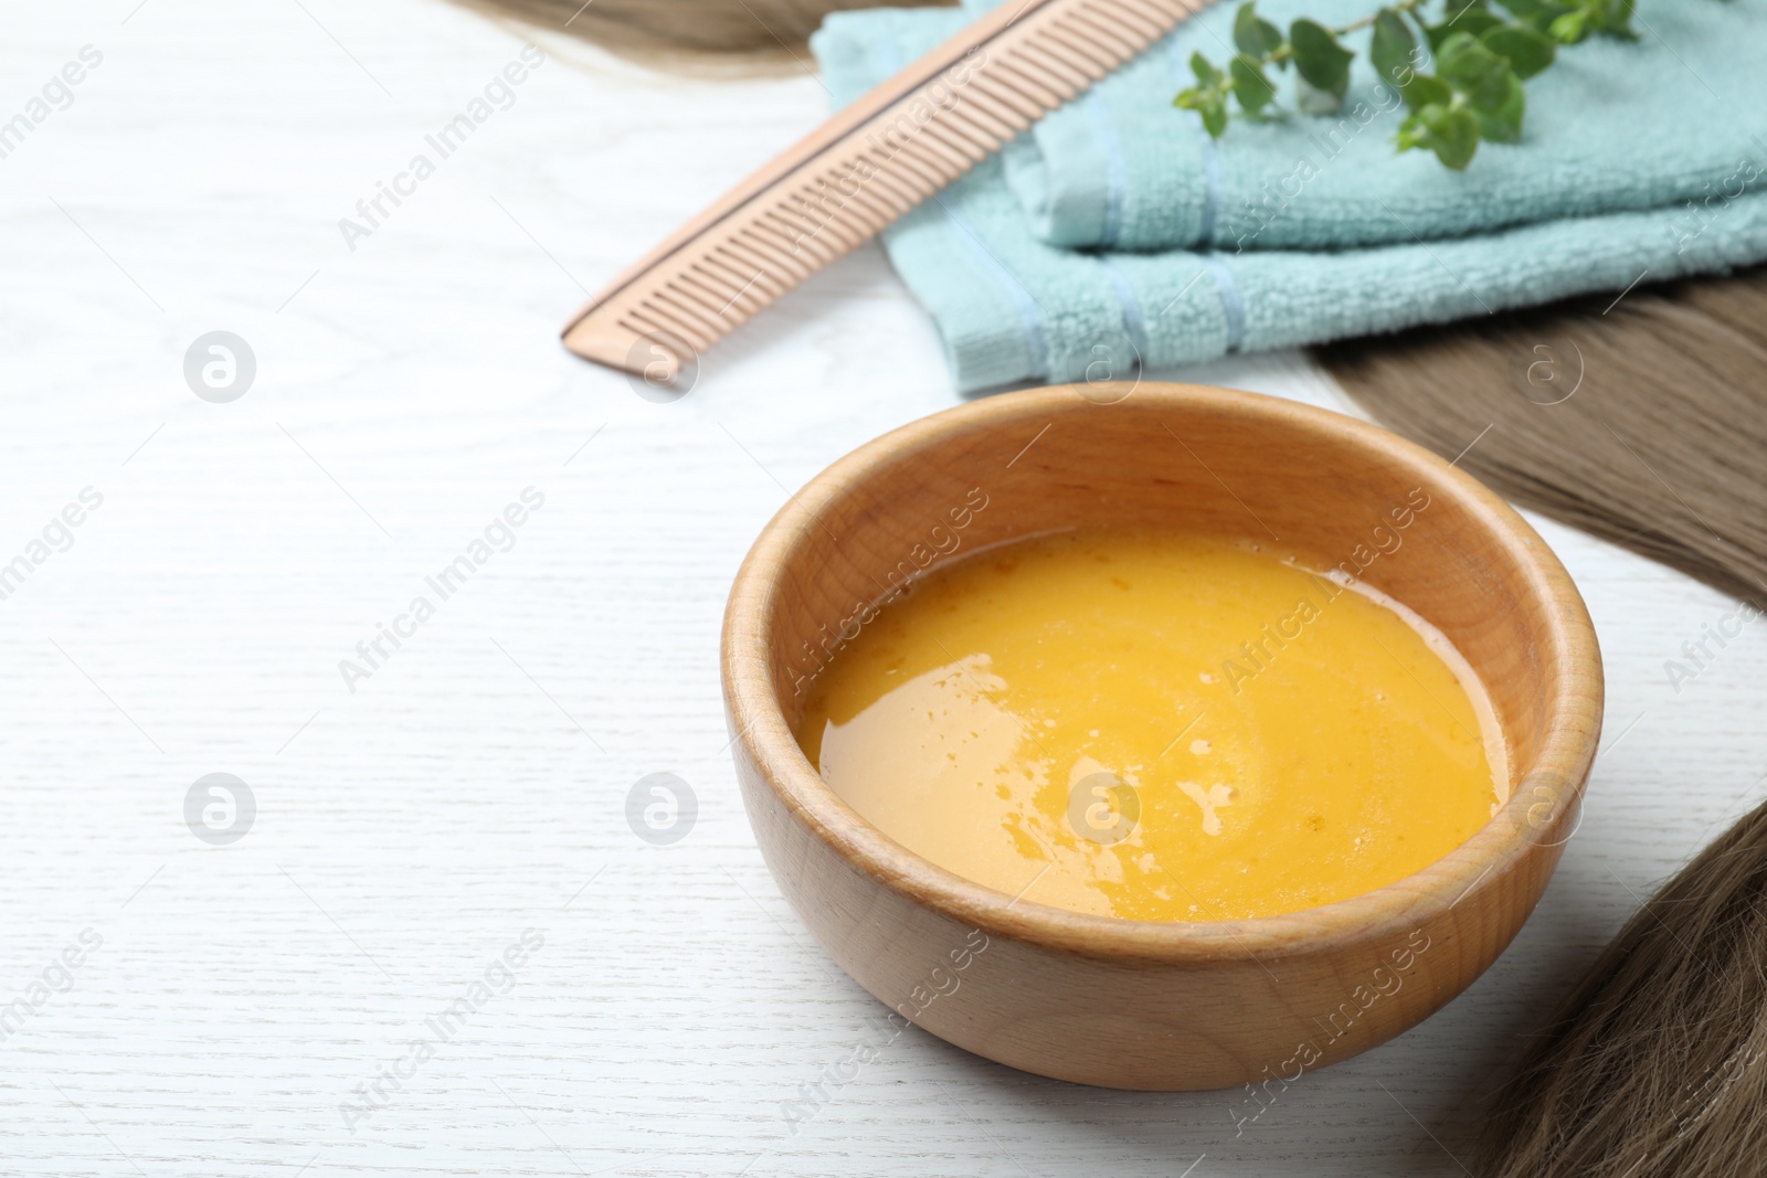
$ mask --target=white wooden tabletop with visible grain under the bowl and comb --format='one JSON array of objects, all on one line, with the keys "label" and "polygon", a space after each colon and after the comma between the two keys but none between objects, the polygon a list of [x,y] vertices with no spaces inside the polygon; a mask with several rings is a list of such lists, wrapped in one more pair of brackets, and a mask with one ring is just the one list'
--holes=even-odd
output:
[{"label": "white wooden tabletop with visible grain under the bowl and comb", "polygon": [[[921,1031],[792,1134],[781,1102],[884,1008],[755,850],[723,599],[792,489],[956,397],[875,247],[677,403],[555,336],[811,127],[820,85],[548,41],[352,251],[339,219],[521,34],[440,0],[5,23],[0,118],[83,46],[102,62],[0,159],[0,563],[25,558],[0,600],[0,1173],[1458,1174],[1514,1037],[1760,793],[1762,631],[1677,694],[1663,662],[1725,599],[1541,523],[1601,631],[1617,747],[1472,991],[1239,1137],[1228,1093],[1074,1088]],[[256,359],[230,403],[184,378],[212,330]],[[1341,406],[1297,355],[1172,376]],[[51,523],[87,487],[102,503]],[[428,590],[527,487],[512,547]],[[419,595],[433,616],[399,622]],[[406,636],[346,685],[383,623]],[[186,821],[216,772],[256,804],[230,844]],[[673,846],[626,819],[652,772],[698,795]]]}]

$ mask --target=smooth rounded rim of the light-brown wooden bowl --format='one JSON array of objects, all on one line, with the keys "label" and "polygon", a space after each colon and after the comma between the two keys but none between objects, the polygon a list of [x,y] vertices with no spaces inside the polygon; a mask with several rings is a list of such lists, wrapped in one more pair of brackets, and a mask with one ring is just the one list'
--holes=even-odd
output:
[{"label": "smooth rounded rim of the light-brown wooden bowl", "polygon": [[1541,611],[1546,622],[1544,645],[1557,650],[1558,669],[1548,683],[1546,740],[1532,765],[1521,766],[1520,774],[1513,772],[1518,784],[1507,804],[1447,857],[1375,892],[1279,917],[1164,922],[1094,917],[1014,901],[915,855],[843,802],[799,749],[772,689],[767,643],[777,570],[797,555],[822,510],[852,495],[873,472],[915,450],[952,434],[986,429],[1000,431],[1004,440],[1011,440],[1016,436],[1007,433],[1012,426],[1037,424],[1051,415],[1108,413],[1117,404],[1108,389],[1088,387],[1088,397],[1080,397],[1073,385],[1057,385],[959,404],[868,442],[786,500],[755,540],[724,609],[723,689],[735,729],[733,742],[760,768],[790,816],[855,871],[959,924],[1087,957],[1164,964],[1244,961],[1246,955],[1265,964],[1286,954],[1325,950],[1352,940],[1403,938],[1456,906],[1481,883],[1483,892],[1507,876],[1532,851],[1550,850],[1528,837],[1528,811],[1539,798],[1530,797],[1523,784],[1530,777],[1562,782],[1553,830],[1564,825],[1560,816],[1567,818],[1576,811],[1601,735],[1603,673],[1596,629],[1583,599],[1539,533],[1490,487],[1378,426],[1235,389],[1141,381],[1124,385],[1124,399],[1152,399],[1180,412],[1209,404],[1249,417],[1265,429],[1325,436],[1380,450],[1394,463],[1428,475],[1431,493],[1440,489],[1454,496],[1513,555],[1528,593],[1546,606]]}]

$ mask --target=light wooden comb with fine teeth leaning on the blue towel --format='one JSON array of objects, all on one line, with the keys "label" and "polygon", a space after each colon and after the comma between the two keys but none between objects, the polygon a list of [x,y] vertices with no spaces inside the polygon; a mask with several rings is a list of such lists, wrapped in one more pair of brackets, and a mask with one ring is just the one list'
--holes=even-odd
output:
[{"label": "light wooden comb with fine teeth leaning on the blue towel", "polygon": [[1023,0],[834,115],[620,274],[571,351],[673,381],[811,274],[871,240],[1210,0]]}]

